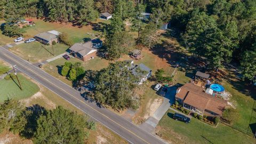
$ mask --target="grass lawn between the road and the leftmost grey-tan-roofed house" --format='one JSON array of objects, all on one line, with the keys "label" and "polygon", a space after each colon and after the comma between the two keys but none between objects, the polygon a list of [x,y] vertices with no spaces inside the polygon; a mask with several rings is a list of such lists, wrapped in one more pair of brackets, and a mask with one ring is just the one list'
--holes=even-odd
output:
[{"label": "grass lawn between the road and the leftmost grey-tan-roofed house", "polygon": [[[19,55],[30,62],[44,61],[57,55],[64,53],[68,49],[65,44],[53,45],[53,50],[50,45],[44,45],[39,42],[23,43],[9,49],[11,52]],[[54,55],[53,55],[54,51]]]}]

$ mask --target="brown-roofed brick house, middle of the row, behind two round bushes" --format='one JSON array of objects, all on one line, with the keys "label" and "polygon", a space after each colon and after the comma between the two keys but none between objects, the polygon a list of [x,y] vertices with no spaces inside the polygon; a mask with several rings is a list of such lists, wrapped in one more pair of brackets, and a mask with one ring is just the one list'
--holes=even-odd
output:
[{"label": "brown-roofed brick house, middle of the row, behind two round bushes", "polygon": [[69,48],[69,51],[74,57],[86,61],[93,59],[97,53],[97,49],[101,46],[102,41],[97,38],[86,43],[75,43]]}]

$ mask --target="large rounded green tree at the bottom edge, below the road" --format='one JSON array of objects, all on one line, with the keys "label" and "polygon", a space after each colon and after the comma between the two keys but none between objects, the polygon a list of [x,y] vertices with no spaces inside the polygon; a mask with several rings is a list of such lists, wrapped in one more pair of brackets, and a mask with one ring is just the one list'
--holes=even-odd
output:
[{"label": "large rounded green tree at the bottom edge, below the road", "polygon": [[69,110],[57,107],[37,120],[34,143],[84,143],[87,119]]}]

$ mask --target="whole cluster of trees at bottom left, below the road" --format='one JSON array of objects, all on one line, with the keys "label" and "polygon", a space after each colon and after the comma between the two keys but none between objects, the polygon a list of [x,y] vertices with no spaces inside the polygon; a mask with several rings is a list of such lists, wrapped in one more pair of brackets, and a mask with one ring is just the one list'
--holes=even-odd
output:
[{"label": "whole cluster of trees at bottom left, below the road", "polygon": [[63,107],[46,110],[39,105],[25,107],[17,100],[0,103],[0,132],[12,131],[34,143],[84,143],[93,121]]}]

